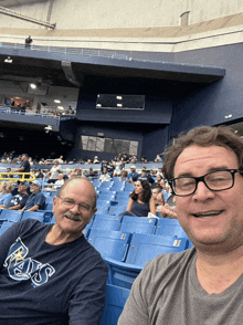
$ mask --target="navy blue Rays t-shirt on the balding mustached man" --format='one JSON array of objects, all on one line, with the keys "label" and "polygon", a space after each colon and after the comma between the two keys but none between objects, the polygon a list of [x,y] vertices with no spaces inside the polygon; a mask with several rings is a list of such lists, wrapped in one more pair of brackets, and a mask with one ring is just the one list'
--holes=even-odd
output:
[{"label": "navy blue Rays t-shirt on the balding mustached man", "polygon": [[107,266],[82,235],[50,245],[53,224],[14,223],[0,237],[0,325],[98,325]]}]

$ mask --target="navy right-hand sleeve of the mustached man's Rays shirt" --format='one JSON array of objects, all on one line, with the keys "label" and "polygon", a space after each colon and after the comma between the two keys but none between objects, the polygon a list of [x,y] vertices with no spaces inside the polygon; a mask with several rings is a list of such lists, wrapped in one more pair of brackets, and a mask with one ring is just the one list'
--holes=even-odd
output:
[{"label": "navy right-hand sleeve of the mustached man's Rays shirt", "polygon": [[70,301],[70,325],[99,325],[106,293],[108,269],[99,260],[87,270]]}]

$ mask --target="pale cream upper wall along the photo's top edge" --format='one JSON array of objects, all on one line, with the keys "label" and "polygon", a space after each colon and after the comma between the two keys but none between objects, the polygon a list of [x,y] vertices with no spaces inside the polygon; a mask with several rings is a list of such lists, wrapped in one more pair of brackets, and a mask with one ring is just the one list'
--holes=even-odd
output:
[{"label": "pale cream upper wall along the photo's top edge", "polygon": [[[180,25],[190,11],[189,23],[198,23],[243,11],[241,0],[55,0],[11,7],[21,14],[56,22],[56,29],[114,29]],[[51,12],[49,9],[51,8]],[[0,28],[43,29],[31,22],[1,14]]]}]

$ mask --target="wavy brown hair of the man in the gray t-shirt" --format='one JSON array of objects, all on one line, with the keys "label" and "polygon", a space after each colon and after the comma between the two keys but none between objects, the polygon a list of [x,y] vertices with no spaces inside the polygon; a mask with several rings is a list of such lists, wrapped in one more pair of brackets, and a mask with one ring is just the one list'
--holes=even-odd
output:
[{"label": "wavy brown hair of the man in the gray t-shirt", "polygon": [[165,164],[162,172],[167,179],[173,178],[173,169],[177,158],[189,146],[197,145],[201,147],[222,146],[232,149],[239,160],[239,169],[243,167],[243,141],[240,136],[228,126],[199,126],[187,134],[179,135],[173,144],[165,150]]}]

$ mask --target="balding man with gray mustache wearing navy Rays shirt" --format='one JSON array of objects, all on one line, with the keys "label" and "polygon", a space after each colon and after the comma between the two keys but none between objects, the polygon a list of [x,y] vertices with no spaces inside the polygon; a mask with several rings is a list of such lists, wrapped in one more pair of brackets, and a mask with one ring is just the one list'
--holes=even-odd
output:
[{"label": "balding man with gray mustache wearing navy Rays shirt", "polygon": [[28,219],[0,237],[3,323],[99,324],[108,270],[82,233],[96,210],[92,184],[68,180],[53,198],[55,224]]}]

